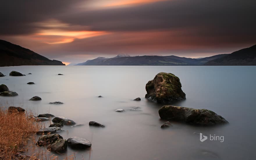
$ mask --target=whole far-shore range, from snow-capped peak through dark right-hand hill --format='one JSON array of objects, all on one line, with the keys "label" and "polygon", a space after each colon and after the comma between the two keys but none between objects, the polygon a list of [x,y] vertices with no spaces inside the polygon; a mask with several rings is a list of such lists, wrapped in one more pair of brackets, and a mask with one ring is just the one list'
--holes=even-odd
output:
[{"label": "whole far-shore range, from snow-capped peak through dark right-hand hill", "polygon": [[129,56],[98,57],[77,65],[256,65],[256,45],[231,54],[218,54],[205,58],[178,56]]}]

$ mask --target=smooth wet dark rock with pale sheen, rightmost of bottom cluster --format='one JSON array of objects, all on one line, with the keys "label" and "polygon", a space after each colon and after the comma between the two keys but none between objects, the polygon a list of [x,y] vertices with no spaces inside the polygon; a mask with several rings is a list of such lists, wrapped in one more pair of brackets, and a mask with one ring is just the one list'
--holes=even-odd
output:
[{"label": "smooth wet dark rock with pale sheen, rightmost of bottom cluster", "polygon": [[86,149],[92,146],[90,141],[80,137],[68,138],[67,144],[73,149]]}]

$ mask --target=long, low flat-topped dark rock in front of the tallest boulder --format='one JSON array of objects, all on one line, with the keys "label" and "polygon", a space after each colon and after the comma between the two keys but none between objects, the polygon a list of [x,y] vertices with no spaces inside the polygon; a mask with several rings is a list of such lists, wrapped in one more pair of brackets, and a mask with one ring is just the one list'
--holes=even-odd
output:
[{"label": "long, low flat-topped dark rock in front of the tallest boulder", "polygon": [[228,123],[225,118],[207,109],[162,106],[158,113],[161,119],[185,122],[191,125],[217,125]]}]

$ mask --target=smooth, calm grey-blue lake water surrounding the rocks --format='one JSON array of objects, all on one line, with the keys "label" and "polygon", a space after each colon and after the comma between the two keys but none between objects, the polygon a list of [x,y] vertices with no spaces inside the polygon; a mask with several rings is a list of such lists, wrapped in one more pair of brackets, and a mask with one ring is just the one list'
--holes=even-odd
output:
[{"label": "smooth, calm grey-blue lake water surrounding the rocks", "polygon": [[[23,77],[9,77],[16,70]],[[67,139],[79,136],[92,143],[91,150],[67,154],[77,159],[254,159],[256,113],[256,67],[206,66],[16,66],[0,67],[0,77],[17,97],[0,97],[1,106],[21,106],[34,113],[51,113],[72,119],[81,127],[63,127]],[[172,122],[161,129],[158,110],[162,105],[144,98],[145,84],[159,72],[178,76],[186,100],[171,105],[210,109],[230,122],[217,127],[194,127]],[[57,74],[64,74],[58,76]],[[28,85],[27,82],[35,85]],[[35,95],[40,102],[29,101]],[[103,98],[97,96],[102,95]],[[141,101],[132,101],[141,97]],[[61,101],[63,105],[49,102]],[[141,111],[130,111],[134,106]],[[115,109],[125,109],[123,113]],[[89,127],[97,121],[105,128]],[[199,141],[205,135],[224,136],[224,142]],[[209,137],[208,137],[209,138]]]}]

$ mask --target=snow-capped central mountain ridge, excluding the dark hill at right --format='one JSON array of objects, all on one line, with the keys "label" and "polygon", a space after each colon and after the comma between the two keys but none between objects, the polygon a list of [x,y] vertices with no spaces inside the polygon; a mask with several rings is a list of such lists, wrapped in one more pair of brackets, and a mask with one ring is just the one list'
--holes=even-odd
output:
[{"label": "snow-capped central mountain ridge, excluding the dark hill at right", "polygon": [[225,54],[195,59],[178,56],[116,56],[98,57],[77,65],[203,65],[205,61],[220,58]]}]

